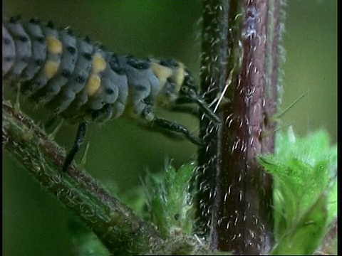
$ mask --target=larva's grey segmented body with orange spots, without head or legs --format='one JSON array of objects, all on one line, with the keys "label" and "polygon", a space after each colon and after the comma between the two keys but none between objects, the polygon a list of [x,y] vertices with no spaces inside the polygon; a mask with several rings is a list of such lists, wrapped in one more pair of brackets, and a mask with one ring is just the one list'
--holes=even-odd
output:
[{"label": "larva's grey segmented body with orange spots, without head or legs", "polygon": [[3,79],[74,122],[118,118],[128,104],[141,114],[145,100],[154,102],[160,90],[150,60],[118,57],[36,18],[11,18],[2,27]]}]

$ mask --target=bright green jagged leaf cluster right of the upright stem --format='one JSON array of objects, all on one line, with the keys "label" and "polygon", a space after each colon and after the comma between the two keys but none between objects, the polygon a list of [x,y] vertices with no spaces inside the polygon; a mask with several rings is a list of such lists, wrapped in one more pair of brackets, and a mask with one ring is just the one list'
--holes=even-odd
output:
[{"label": "bright green jagged leaf cluster right of the upright stem", "polygon": [[274,176],[273,253],[310,253],[337,215],[337,146],[326,132],[298,138],[290,130],[276,137],[276,153],[259,162]]}]

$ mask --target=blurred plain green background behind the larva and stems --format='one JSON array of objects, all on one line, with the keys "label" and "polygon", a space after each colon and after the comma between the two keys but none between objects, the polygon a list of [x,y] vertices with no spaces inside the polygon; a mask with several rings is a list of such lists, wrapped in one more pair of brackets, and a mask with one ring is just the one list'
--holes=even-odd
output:
[{"label": "blurred plain green background behind the larva and stems", "polygon": [[[286,8],[284,97],[282,108],[302,93],[302,100],[282,118],[286,129],[305,135],[327,129],[337,141],[337,0],[291,0]],[[199,0],[42,1],[4,0],[5,17],[22,14],[71,26],[78,36],[89,35],[108,50],[138,57],[170,57],[186,63],[198,75],[201,15]],[[22,104],[36,119],[43,111]],[[165,112],[160,112],[165,116]],[[197,132],[187,115],[167,115]],[[76,127],[64,125],[56,140],[67,148]],[[66,136],[68,134],[68,136]],[[106,184],[126,191],[140,184],[146,169],[162,170],[165,159],[177,167],[195,159],[196,147],[138,128],[125,119],[93,126],[86,169]],[[78,155],[78,159],[81,154]],[[27,171],[4,152],[4,255],[74,255],[68,223],[71,213],[43,192]],[[108,185],[109,186],[109,185]]]}]

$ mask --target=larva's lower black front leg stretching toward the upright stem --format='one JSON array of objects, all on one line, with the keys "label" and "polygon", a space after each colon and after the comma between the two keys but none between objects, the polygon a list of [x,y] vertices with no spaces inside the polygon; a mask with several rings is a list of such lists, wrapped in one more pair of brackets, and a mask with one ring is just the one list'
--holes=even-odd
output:
[{"label": "larva's lower black front leg stretching toward the upright stem", "polygon": [[195,137],[187,128],[183,127],[181,124],[170,122],[167,119],[162,119],[160,117],[154,117],[152,119],[152,124],[162,129],[167,129],[172,132],[183,134],[185,138],[187,138],[190,142],[197,146],[202,146],[203,144],[201,139]]}]

